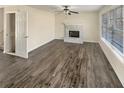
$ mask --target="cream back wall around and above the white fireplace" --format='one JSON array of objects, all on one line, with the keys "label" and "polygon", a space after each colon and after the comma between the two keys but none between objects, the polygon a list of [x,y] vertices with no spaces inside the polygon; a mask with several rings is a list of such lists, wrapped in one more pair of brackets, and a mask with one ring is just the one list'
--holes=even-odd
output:
[{"label": "cream back wall around and above the white fireplace", "polygon": [[65,16],[56,14],[55,16],[55,37],[56,39],[64,38],[65,24],[81,24],[83,26],[84,41],[98,42],[99,41],[99,16],[98,12],[83,12],[78,15]]}]

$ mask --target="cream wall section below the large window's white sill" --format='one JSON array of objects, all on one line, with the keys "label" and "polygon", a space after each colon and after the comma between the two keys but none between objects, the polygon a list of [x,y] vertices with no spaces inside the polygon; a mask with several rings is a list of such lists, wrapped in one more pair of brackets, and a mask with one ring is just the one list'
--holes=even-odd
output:
[{"label": "cream wall section below the large window's white sill", "polygon": [[104,41],[101,40],[99,44],[124,87],[124,59],[121,59]]}]

